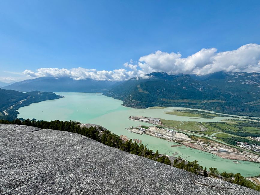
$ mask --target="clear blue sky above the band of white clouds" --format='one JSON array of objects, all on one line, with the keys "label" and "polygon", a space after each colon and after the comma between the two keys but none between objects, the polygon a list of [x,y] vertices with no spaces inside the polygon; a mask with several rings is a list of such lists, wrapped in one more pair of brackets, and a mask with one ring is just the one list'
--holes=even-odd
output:
[{"label": "clear blue sky above the band of white clouds", "polygon": [[25,79],[26,69],[125,69],[158,50],[187,58],[260,44],[259,10],[260,1],[1,0],[0,80]]}]

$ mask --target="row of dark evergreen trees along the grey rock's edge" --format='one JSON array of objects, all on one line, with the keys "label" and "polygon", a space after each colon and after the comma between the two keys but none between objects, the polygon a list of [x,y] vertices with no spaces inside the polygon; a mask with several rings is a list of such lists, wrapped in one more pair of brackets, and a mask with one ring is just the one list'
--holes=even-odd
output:
[{"label": "row of dark evergreen trees along the grey rock's edge", "polygon": [[[13,124],[13,125],[27,125],[32,127],[37,127],[41,129],[54,129],[59,131],[68,131],[72,133],[81,134],[83,136],[89,137],[93,140],[96,140],[100,143],[103,143],[107,146],[118,148],[122,151],[129,152],[134,155],[142,156],[145,158],[149,158],[151,160],[164,163],[167,165],[171,165],[171,161],[169,158],[164,154],[160,155],[158,150],[154,153],[153,150],[147,149],[145,145],[142,143],[136,143],[133,142],[133,140],[127,140],[123,141],[120,136],[115,135],[111,131],[105,130],[102,131],[102,128],[100,127],[97,129],[96,127],[80,127],[79,122],[75,121],[37,121],[36,119],[26,119],[26,120],[20,120],[15,119],[13,121],[8,120],[0,120],[0,123],[2,124]],[[203,168],[198,164],[198,161],[192,161],[187,162],[181,159],[181,157],[178,157],[174,160],[173,164],[174,167],[177,167],[179,169],[183,169],[186,171],[189,171],[194,174],[198,174],[201,176],[208,177],[208,171],[207,168]],[[243,176],[241,176],[240,173],[219,173],[217,168],[209,168],[209,175],[212,177],[219,177],[222,176],[225,181],[232,182],[235,184],[239,184],[245,187],[249,187],[255,190],[260,191],[260,185],[255,185],[253,182],[250,182],[249,180],[245,179]]]}]

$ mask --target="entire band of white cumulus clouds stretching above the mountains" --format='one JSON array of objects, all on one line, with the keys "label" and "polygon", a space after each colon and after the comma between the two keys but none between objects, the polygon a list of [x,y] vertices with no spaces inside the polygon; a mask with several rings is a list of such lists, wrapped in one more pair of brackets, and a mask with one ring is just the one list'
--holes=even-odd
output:
[{"label": "entire band of white cumulus clouds stretching above the mountains", "polygon": [[58,69],[40,68],[36,72],[25,70],[23,73],[32,77],[68,76],[73,79],[110,80],[119,81],[132,77],[148,78],[146,74],[151,72],[166,72],[168,74],[197,74],[203,75],[217,71],[244,71],[260,72],[260,45],[247,44],[236,50],[217,52],[216,48],[201,49],[199,52],[182,58],[180,52],[156,51],[149,55],[139,58],[134,63],[131,59],[126,62],[124,67],[127,69],[116,70],[96,70],[86,68]]}]

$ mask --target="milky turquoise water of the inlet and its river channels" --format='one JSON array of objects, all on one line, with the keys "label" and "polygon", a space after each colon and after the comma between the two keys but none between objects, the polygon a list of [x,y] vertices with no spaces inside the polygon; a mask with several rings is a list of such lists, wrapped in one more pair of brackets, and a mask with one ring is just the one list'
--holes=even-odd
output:
[{"label": "milky turquoise water of the inlet and its river channels", "polygon": [[[137,126],[147,123],[129,120],[129,116],[147,116],[167,120],[178,121],[199,121],[199,122],[219,122],[228,117],[216,117],[213,119],[174,116],[165,114],[166,111],[177,110],[178,108],[165,109],[133,109],[121,106],[120,100],[115,100],[101,94],[94,93],[56,93],[64,98],[57,100],[43,101],[29,106],[19,108],[18,118],[35,118],[37,120],[74,120],[82,123],[94,123],[105,127],[117,135],[126,135],[130,139],[142,140],[149,149],[158,150],[161,154],[172,155],[177,152],[177,156],[188,161],[197,160],[203,167],[217,167],[220,172],[241,173],[243,176],[253,176],[260,174],[260,164],[247,161],[237,161],[223,159],[208,152],[182,147],[171,147],[172,142],[162,140],[148,135],[139,135],[128,132],[125,128],[130,125]],[[184,109],[184,108],[181,108]]]}]

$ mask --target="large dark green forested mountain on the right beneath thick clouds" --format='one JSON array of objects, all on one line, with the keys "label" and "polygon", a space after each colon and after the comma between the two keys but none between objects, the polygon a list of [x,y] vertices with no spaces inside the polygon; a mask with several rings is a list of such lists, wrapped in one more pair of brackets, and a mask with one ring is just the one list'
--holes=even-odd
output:
[{"label": "large dark green forested mountain on the right beneath thick clouds", "polygon": [[133,108],[190,107],[260,116],[260,73],[217,72],[208,76],[151,73],[132,78],[105,93]]}]

